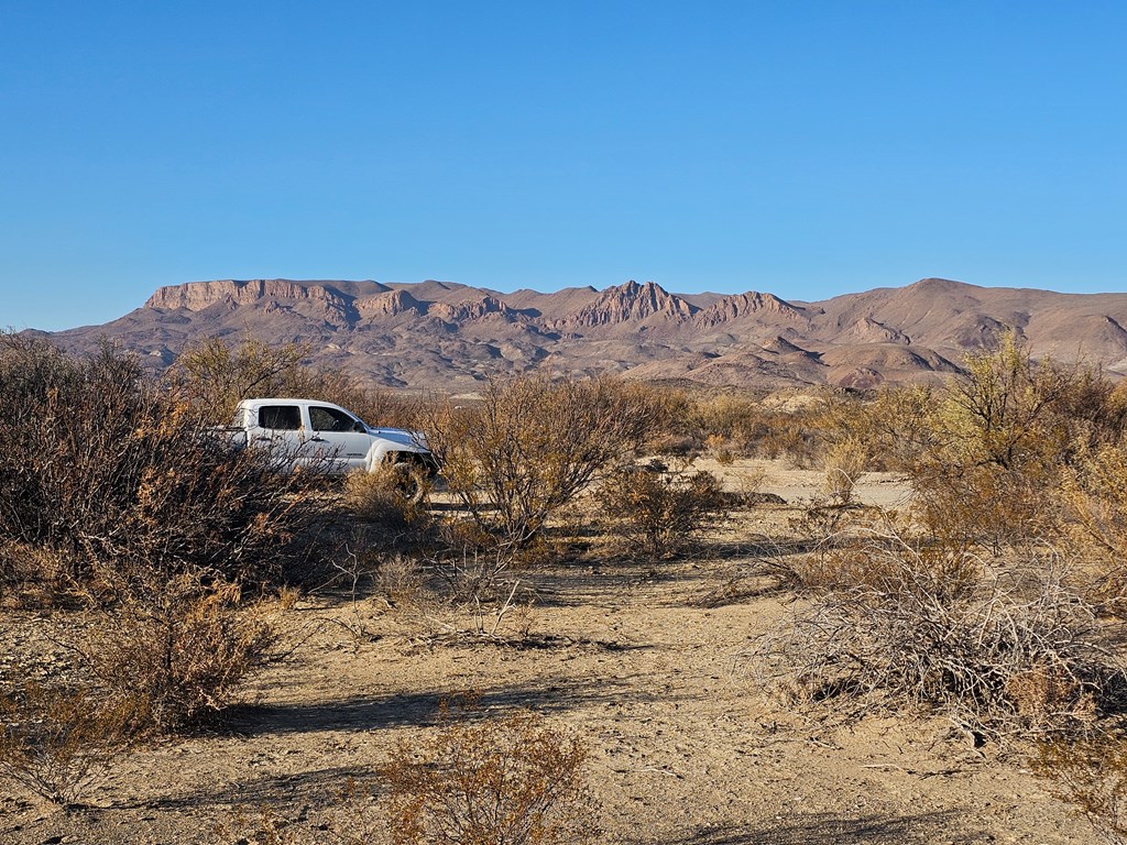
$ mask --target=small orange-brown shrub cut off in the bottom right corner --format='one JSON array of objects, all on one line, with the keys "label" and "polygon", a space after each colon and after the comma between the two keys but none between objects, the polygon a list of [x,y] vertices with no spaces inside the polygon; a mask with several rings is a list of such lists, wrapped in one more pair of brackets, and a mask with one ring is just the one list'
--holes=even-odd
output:
[{"label": "small orange-brown shrub cut off in the bottom right corner", "polygon": [[1127,843],[1127,741],[1116,732],[1042,741],[1032,768],[1109,843]]}]

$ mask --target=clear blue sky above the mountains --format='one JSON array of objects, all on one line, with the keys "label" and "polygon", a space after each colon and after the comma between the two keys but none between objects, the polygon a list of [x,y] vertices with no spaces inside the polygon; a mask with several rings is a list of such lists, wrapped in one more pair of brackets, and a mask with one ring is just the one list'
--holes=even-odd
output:
[{"label": "clear blue sky above the mountains", "polygon": [[1127,290],[1121,2],[0,0],[0,327],[208,278]]}]

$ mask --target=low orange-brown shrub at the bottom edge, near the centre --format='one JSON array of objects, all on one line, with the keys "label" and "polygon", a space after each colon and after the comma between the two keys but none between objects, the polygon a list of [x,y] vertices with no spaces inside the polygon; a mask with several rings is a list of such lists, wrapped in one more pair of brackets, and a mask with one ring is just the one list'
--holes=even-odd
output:
[{"label": "low orange-brown shrub at the bottom edge, near the centre", "polygon": [[587,750],[532,714],[447,721],[400,744],[383,768],[397,845],[578,845],[596,842]]}]

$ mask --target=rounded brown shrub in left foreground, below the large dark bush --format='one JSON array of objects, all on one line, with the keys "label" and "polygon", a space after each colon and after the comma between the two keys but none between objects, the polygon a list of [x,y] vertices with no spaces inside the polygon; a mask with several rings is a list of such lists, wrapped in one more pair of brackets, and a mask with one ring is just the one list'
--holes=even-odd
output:
[{"label": "rounded brown shrub in left foreground, below the large dark bush", "polygon": [[274,655],[276,630],[243,606],[239,585],[183,573],[134,578],[113,595],[68,644],[139,733],[221,710]]}]

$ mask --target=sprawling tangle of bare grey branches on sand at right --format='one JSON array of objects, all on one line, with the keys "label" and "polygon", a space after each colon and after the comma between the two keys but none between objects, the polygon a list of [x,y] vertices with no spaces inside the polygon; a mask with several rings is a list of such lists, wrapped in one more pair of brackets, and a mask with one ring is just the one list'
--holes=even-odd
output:
[{"label": "sprawling tangle of bare grey branches on sand at right", "polygon": [[1122,671],[1059,558],[937,557],[896,535],[868,554],[859,582],[838,578],[758,641],[764,684],[946,710],[991,730],[1082,727],[1108,704]]}]

